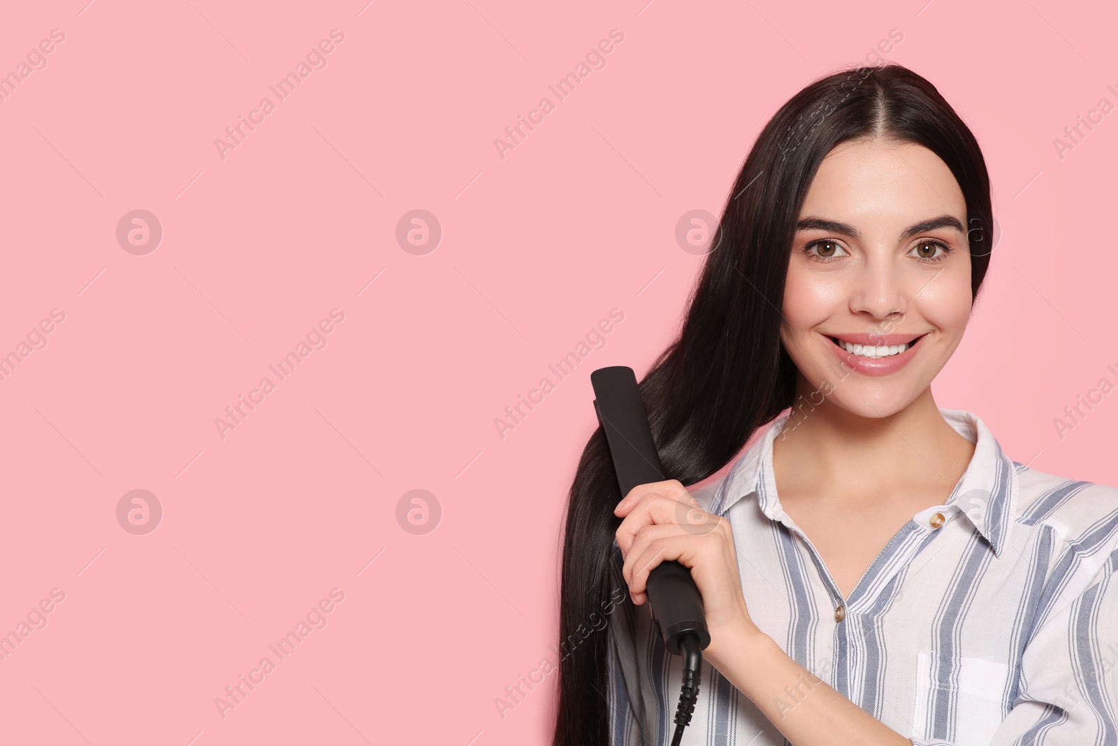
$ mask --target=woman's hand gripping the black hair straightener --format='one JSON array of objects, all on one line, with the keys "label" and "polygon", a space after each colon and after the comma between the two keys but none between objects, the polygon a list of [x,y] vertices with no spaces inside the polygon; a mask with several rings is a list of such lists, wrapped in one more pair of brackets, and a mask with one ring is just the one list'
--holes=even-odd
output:
[{"label": "woman's hand gripping the black hair straightener", "polygon": [[625,564],[622,574],[634,604],[647,598],[648,574],[661,563],[679,560],[691,568],[702,594],[710,645],[703,657],[718,665],[722,651],[761,635],[749,617],[741,594],[738,558],[730,522],[699,507],[699,501],[678,480],[650,482],[633,488],[614,509],[624,518],[617,529],[617,546]]}]

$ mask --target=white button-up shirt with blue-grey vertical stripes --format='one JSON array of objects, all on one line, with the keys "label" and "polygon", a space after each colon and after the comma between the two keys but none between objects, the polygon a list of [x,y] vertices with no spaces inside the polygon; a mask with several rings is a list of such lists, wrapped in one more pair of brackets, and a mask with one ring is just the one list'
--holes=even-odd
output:
[{"label": "white button-up shirt with blue-grey vertical stripes", "polygon": [[[1118,489],[1011,461],[983,422],[940,409],[975,444],[948,500],[916,513],[843,598],[784,512],[773,422],[691,492],[730,521],[749,614],[794,660],[915,746],[1118,744]],[[614,542],[614,588],[627,586]],[[610,743],[670,743],[682,658],[648,605],[608,625]],[[807,692],[795,688],[780,711]],[[703,661],[683,745],[783,746]]]}]

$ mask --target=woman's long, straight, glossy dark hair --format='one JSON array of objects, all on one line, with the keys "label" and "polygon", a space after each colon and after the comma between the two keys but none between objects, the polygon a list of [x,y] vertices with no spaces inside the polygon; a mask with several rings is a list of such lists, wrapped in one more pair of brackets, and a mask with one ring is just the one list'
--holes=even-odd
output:
[{"label": "woman's long, straight, glossy dark hair", "polygon": [[[974,134],[923,77],[896,64],[841,70],[809,84],[769,120],[735,181],[679,336],[639,381],[664,473],[695,484],[793,404],[796,367],[780,343],[788,257],[804,197],[823,158],[850,140],[923,145],[955,174],[967,206],[972,299],[989,264],[993,215]],[[591,416],[587,408],[587,416]],[[610,607],[610,554],[623,495],[599,426],[567,503],[553,746],[607,746],[605,634],[577,633]],[[622,603],[632,604],[629,598]],[[576,642],[577,644],[571,644]],[[619,705],[624,705],[620,702]]]}]

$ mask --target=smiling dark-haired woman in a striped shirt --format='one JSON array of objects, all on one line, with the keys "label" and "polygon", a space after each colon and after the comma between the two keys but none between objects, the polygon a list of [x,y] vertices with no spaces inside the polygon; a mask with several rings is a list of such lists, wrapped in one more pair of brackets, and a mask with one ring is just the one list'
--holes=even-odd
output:
[{"label": "smiling dark-haired woman in a striped shirt", "polygon": [[682,659],[645,583],[672,559],[711,633],[684,744],[1116,743],[1118,490],[1008,460],[931,395],[992,224],[974,135],[911,70],[777,112],[641,381],[675,479],[620,495],[600,427],[579,462],[555,744],[669,743]]}]

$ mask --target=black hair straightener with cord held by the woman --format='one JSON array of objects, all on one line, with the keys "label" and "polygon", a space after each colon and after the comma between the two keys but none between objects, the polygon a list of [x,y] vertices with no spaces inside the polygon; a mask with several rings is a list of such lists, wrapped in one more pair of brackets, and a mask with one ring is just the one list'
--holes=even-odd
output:
[{"label": "black hair straightener with cord held by the woman", "polygon": [[[638,484],[670,479],[660,463],[633,369],[626,366],[598,368],[590,374],[590,384],[597,397],[594,408],[609,443],[622,497]],[[647,595],[664,645],[672,654],[683,655],[683,691],[675,710],[672,737],[672,746],[679,746],[699,699],[702,651],[710,644],[702,594],[691,578],[691,570],[671,560],[661,563],[648,574]]]}]

